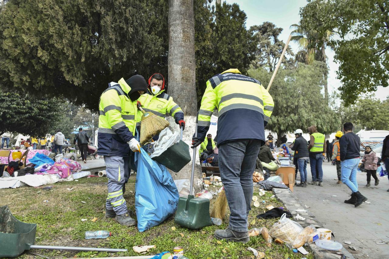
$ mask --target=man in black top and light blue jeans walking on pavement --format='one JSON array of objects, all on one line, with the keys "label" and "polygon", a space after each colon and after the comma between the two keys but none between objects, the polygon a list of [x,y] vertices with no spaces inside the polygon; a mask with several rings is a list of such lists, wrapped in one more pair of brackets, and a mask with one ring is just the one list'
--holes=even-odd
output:
[{"label": "man in black top and light blue jeans walking on pavement", "polygon": [[342,167],[342,182],[351,190],[351,198],[345,200],[345,203],[354,204],[355,207],[361,205],[367,200],[358,191],[357,183],[357,168],[359,165],[359,150],[361,140],[352,132],[352,123],[346,122],[343,124],[344,135],[339,140],[340,145],[340,165]]}]

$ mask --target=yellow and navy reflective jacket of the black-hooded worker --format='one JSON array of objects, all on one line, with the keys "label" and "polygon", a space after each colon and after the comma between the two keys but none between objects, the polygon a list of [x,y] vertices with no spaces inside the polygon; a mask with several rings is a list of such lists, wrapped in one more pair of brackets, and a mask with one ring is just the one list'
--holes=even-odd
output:
[{"label": "yellow and navy reflective jacket of the black-hooded worker", "polygon": [[122,78],[118,84],[110,84],[100,97],[98,149],[102,156],[128,156],[126,142],[133,138],[138,119],[137,101],[131,101],[131,87]]}]

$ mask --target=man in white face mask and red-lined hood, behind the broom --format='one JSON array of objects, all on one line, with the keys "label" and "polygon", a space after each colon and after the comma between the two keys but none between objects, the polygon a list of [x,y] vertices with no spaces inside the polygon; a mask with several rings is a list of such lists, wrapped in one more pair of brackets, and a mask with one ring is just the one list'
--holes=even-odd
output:
[{"label": "man in white face mask and red-lined hood, behind the broom", "polygon": [[[174,117],[175,123],[179,124],[180,127],[184,129],[184,112],[182,112],[179,105],[173,101],[171,96],[164,93],[165,78],[163,78],[160,73],[154,73],[149,78],[149,85],[147,86],[147,89],[147,93],[142,94],[138,99],[142,104],[142,108],[146,112],[152,112],[162,118],[165,118],[166,114],[170,114]],[[158,140],[158,136],[153,139]]]}]

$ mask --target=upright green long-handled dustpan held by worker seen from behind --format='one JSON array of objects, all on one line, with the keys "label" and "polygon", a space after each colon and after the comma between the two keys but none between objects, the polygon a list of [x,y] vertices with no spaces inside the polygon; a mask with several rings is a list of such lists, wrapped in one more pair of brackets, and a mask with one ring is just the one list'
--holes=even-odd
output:
[{"label": "upright green long-handled dustpan held by worker seen from behind", "polygon": [[[197,137],[197,122],[195,137]],[[189,229],[199,229],[212,225],[209,216],[209,200],[193,196],[193,180],[195,178],[196,148],[193,149],[191,186],[188,197],[180,197],[174,222]]]}]

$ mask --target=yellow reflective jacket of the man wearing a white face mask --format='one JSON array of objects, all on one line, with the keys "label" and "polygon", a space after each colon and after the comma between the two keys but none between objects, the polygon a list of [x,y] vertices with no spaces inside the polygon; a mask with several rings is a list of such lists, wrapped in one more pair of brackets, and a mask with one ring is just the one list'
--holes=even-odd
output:
[{"label": "yellow reflective jacket of the man wearing a white face mask", "polygon": [[[172,96],[169,96],[166,93],[163,93],[165,90],[160,91],[156,95],[152,95],[148,89],[147,93],[142,94],[138,101],[142,104],[142,108],[146,112],[152,112],[159,117],[165,118],[166,114],[170,114],[175,119],[175,123],[178,124],[178,121],[184,119],[184,112],[177,103],[173,101]],[[138,111],[140,115],[139,121],[142,118],[142,112]],[[138,122],[139,122],[138,121]]]}]

